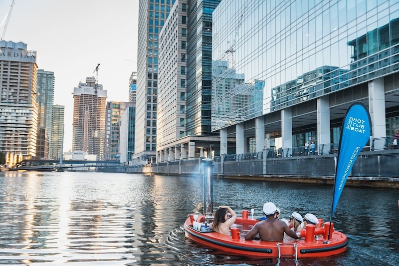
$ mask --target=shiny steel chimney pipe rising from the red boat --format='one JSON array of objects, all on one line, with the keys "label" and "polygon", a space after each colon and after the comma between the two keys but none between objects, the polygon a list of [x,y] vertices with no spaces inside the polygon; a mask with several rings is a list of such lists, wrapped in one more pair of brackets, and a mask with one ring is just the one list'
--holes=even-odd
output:
[{"label": "shiny steel chimney pipe rising from the red boat", "polygon": [[212,159],[202,159],[203,164],[203,214],[213,216],[213,171]]}]

